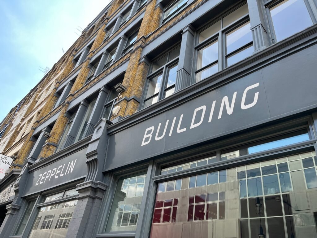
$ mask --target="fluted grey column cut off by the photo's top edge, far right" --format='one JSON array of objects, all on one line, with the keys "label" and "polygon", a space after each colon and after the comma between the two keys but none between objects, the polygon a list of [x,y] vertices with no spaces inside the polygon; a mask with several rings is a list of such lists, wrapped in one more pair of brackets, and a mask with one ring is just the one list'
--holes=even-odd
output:
[{"label": "fluted grey column cut off by the photo's top edge, far right", "polygon": [[248,0],[249,17],[253,38],[254,54],[269,46],[268,27],[263,13],[264,5],[260,0]]}]

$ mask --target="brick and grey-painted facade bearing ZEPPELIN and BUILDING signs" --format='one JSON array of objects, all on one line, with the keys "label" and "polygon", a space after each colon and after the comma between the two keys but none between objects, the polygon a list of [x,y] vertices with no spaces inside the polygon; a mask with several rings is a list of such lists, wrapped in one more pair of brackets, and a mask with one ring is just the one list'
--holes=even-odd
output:
[{"label": "brick and grey-painted facade bearing ZEPPELIN and BUILDING signs", "polygon": [[0,237],[317,237],[316,19],[113,0],[0,182]]}]

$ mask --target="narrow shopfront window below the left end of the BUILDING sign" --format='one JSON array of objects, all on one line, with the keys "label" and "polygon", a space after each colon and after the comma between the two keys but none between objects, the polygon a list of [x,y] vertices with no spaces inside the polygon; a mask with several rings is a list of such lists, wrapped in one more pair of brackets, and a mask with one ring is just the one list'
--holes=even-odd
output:
[{"label": "narrow shopfront window below the left end of the BUILDING sign", "polygon": [[144,173],[119,179],[105,232],[136,230],[145,180]]}]

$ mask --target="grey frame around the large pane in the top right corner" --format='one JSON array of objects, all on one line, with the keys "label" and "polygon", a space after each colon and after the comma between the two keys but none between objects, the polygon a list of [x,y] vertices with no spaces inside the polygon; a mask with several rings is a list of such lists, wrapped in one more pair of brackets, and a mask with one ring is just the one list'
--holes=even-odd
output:
[{"label": "grey frame around the large pane in the top right corner", "polygon": [[[271,38],[271,44],[277,43],[276,35],[275,35],[275,30],[274,30],[274,25],[273,25],[273,20],[271,17],[271,12],[270,8],[274,7],[275,5],[283,2],[284,0],[263,0],[263,5],[265,8],[265,18],[268,24],[268,31],[269,31],[269,36]],[[314,11],[312,8],[317,7],[317,2],[315,0],[309,1],[309,0],[303,0],[307,11],[309,13],[310,18],[312,19],[313,24],[317,23],[317,16],[314,14]],[[303,29],[304,30],[304,29]]]}]

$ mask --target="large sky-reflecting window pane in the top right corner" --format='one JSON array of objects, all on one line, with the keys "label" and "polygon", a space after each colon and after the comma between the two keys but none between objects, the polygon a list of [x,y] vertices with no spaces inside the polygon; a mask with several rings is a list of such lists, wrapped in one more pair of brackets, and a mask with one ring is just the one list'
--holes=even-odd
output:
[{"label": "large sky-reflecting window pane in the top right corner", "polygon": [[277,41],[313,24],[304,0],[283,1],[270,9]]}]

